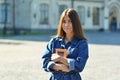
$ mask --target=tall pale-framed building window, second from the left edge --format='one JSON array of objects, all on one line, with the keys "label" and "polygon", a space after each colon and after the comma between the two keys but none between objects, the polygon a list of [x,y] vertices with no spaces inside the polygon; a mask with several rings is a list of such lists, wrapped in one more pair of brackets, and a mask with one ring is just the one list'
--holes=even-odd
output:
[{"label": "tall pale-framed building window, second from the left edge", "polygon": [[40,5],[40,24],[48,24],[49,6],[48,4]]}]

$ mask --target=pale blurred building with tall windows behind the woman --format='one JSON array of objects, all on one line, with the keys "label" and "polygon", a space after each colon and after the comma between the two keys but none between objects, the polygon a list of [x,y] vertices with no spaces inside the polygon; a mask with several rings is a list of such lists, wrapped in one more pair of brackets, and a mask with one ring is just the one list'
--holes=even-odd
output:
[{"label": "pale blurred building with tall windows behind the woman", "polygon": [[0,28],[57,29],[60,14],[70,7],[86,30],[112,30],[113,20],[120,29],[120,0],[0,0]]}]

